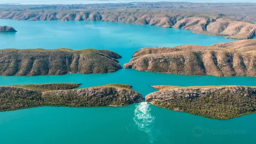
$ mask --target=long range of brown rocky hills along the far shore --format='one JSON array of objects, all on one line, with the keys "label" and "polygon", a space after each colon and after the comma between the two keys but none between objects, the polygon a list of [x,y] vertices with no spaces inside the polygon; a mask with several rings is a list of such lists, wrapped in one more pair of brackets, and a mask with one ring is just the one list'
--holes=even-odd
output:
[{"label": "long range of brown rocky hills along the far shore", "polygon": [[[187,12],[184,7],[196,10]],[[217,6],[220,5],[220,6]],[[227,7],[217,4],[214,8]],[[241,4],[244,5],[244,4]],[[94,5],[36,5],[6,6],[0,9],[0,19],[11,20],[100,20],[138,25],[183,28],[193,33],[222,35],[230,39],[252,39],[256,36],[256,24],[242,21],[236,15],[239,5],[231,5],[232,18],[217,11],[201,12],[200,8],[212,7],[194,3],[138,3]],[[250,7],[250,6],[246,6]],[[225,8],[223,8],[223,12]],[[198,13],[197,13],[198,11]],[[240,10],[243,13],[243,10]],[[235,15],[234,15],[235,13]],[[247,15],[249,12],[242,14]],[[239,17],[239,18],[238,18]],[[255,16],[256,17],[256,16]],[[235,19],[237,18],[237,19]],[[254,19],[252,19],[254,20]]]}]

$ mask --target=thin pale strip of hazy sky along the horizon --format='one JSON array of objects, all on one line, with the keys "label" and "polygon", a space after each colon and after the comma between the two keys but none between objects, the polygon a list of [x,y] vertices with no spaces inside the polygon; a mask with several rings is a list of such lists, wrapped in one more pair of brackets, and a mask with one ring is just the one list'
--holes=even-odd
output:
[{"label": "thin pale strip of hazy sky along the horizon", "polygon": [[92,4],[92,3],[121,3],[121,2],[253,2],[256,0],[0,0],[3,3],[20,3],[20,4]]}]

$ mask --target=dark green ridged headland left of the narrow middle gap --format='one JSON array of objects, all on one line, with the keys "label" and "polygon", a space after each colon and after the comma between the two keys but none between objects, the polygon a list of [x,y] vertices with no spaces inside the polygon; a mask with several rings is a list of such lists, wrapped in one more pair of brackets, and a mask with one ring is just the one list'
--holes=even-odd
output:
[{"label": "dark green ridged headland left of the narrow middle gap", "polygon": [[121,58],[108,50],[84,49],[3,49],[0,50],[0,75],[37,76],[67,73],[116,72]]}]

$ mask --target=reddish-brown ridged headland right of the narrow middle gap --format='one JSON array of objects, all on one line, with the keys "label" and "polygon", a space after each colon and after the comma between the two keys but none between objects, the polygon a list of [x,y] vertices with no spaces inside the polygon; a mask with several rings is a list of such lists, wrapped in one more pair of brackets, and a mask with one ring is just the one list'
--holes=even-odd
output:
[{"label": "reddish-brown ridged headland right of the narrow middle gap", "polygon": [[183,75],[256,76],[256,39],[212,46],[143,48],[125,64],[145,72]]}]

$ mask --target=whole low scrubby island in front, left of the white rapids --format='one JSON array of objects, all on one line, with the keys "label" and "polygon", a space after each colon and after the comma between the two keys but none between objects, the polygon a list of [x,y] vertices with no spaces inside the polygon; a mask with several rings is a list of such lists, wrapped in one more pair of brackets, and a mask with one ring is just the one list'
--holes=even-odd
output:
[{"label": "whole low scrubby island in front, left of the white rapids", "polygon": [[125,106],[142,102],[140,93],[131,85],[109,84],[78,88],[80,84],[54,83],[0,86],[0,111],[38,106]]}]

